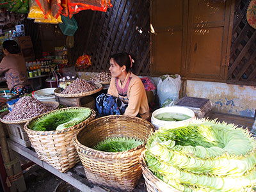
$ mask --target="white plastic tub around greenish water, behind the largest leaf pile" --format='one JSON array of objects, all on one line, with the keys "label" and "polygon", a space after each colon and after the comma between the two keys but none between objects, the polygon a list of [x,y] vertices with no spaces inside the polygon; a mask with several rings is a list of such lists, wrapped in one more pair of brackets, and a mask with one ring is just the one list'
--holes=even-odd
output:
[{"label": "white plastic tub around greenish water, behind the largest leaf pile", "polygon": [[[175,122],[175,121],[163,121],[157,119],[155,116],[159,115],[160,113],[166,113],[166,112],[173,112],[173,113],[182,113],[184,115],[191,116],[191,118],[188,118],[187,120]],[[180,127],[188,122],[191,122],[193,119],[195,119],[195,113],[189,108],[179,107],[179,106],[172,106],[172,107],[166,107],[166,108],[160,108],[157,109],[152,113],[151,116],[151,123],[154,125],[156,129],[159,129],[159,127],[169,127],[170,129],[175,127]]]}]

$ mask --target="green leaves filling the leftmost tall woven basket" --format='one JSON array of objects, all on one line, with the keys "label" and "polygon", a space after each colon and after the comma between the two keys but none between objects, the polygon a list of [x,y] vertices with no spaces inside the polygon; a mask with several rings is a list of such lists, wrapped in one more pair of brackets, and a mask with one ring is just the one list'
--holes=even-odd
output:
[{"label": "green leaves filling the leftmost tall woven basket", "polygon": [[29,123],[34,131],[58,131],[80,124],[92,114],[90,108],[67,108],[47,113]]}]

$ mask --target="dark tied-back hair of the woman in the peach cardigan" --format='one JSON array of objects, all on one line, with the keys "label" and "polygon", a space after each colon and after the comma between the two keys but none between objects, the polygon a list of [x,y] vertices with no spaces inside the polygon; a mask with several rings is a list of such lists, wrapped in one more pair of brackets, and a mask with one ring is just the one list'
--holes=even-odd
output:
[{"label": "dark tied-back hair of the woman in the peach cardigan", "polygon": [[[122,67],[125,65],[126,71],[129,72],[131,70],[134,60],[132,60],[131,55],[129,55],[127,52],[119,52],[116,54],[113,54],[110,58],[113,58],[113,60]],[[133,62],[132,62],[133,61]]]}]

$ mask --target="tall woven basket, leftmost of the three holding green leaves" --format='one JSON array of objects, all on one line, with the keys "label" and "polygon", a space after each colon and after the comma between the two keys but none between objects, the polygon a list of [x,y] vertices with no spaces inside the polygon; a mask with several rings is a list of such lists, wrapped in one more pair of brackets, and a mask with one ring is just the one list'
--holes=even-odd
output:
[{"label": "tall woven basket, leftmost of the three holding green leaves", "polygon": [[[69,108],[59,110],[64,111],[67,109]],[[28,134],[31,145],[35,148],[36,154],[40,160],[51,164],[51,166],[60,172],[67,172],[79,162],[79,156],[74,147],[74,143],[72,142],[72,138],[79,129],[86,126],[86,124],[93,120],[95,116],[95,111],[92,109],[92,115],[86,120],[80,124],[60,131],[33,131],[28,129],[28,125],[33,120],[40,117],[37,116],[24,125],[24,130]]]}]

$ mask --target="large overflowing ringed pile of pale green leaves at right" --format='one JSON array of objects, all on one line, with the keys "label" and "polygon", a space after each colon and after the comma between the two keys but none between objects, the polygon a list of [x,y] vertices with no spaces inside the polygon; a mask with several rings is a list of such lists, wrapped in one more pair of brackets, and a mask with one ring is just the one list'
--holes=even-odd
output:
[{"label": "large overflowing ringed pile of pale green leaves at right", "polygon": [[203,119],[159,129],[148,139],[145,162],[180,191],[254,191],[255,148],[247,130]]}]

